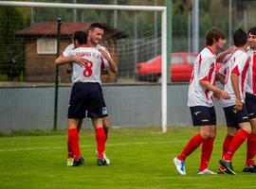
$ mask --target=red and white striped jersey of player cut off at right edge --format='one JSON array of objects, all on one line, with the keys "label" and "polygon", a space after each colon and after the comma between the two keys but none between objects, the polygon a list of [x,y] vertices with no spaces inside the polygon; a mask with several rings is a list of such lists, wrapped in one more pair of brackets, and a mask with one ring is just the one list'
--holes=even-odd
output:
[{"label": "red and white striped jersey of player cut off at right edge", "polygon": [[256,50],[247,49],[249,56],[249,69],[247,77],[247,93],[256,95]]}]

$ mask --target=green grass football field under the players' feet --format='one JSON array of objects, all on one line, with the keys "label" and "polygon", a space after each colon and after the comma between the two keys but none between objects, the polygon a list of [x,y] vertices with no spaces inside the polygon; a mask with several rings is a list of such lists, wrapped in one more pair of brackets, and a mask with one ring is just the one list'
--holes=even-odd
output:
[{"label": "green grass football field under the players' feet", "polygon": [[[210,168],[217,170],[226,133],[218,127]],[[237,175],[198,176],[200,149],[186,162],[187,176],[176,173],[173,159],[196,133],[192,128],[110,130],[107,155],[111,165],[96,165],[92,129],[81,133],[85,164],[67,167],[66,131],[31,131],[0,137],[0,188],[256,188],[256,174],[242,173],[245,145],[235,154]]]}]

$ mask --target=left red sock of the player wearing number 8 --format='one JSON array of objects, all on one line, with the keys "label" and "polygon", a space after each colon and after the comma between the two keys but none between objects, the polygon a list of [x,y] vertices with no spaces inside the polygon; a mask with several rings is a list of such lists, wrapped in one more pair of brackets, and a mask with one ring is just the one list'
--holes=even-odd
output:
[{"label": "left red sock of the player wearing number 8", "polygon": [[79,135],[78,130],[68,129],[68,144],[71,146],[72,151],[75,153],[75,159],[78,160],[81,157]]}]

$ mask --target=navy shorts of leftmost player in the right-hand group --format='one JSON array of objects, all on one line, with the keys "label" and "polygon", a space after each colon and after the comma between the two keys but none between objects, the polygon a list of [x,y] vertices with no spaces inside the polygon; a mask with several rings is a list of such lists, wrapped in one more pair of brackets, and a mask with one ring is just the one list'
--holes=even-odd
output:
[{"label": "navy shorts of leftmost player in the right-hand group", "polygon": [[216,125],[216,112],[214,107],[195,106],[190,107],[193,126]]}]

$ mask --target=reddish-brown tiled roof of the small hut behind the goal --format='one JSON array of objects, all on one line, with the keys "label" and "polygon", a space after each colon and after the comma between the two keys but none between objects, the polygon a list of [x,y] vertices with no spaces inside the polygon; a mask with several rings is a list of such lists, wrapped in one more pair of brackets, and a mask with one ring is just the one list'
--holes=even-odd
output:
[{"label": "reddish-brown tiled roof of the small hut behind the goal", "polygon": [[[16,32],[17,36],[56,36],[56,22],[39,23],[36,26],[29,26]],[[84,30],[90,26],[90,23],[62,23],[61,35],[71,35],[75,31]]]}]

